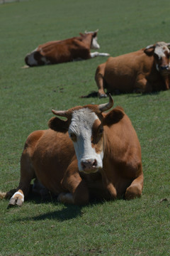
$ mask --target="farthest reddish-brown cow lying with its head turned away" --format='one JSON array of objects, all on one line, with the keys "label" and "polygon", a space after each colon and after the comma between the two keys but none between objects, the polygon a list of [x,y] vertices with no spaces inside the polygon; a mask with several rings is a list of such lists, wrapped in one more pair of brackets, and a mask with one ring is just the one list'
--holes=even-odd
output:
[{"label": "farthest reddish-brown cow lying with its head turned away", "polygon": [[99,49],[97,42],[98,30],[79,33],[80,36],[61,41],[44,43],[32,53],[28,53],[25,62],[28,67],[67,63],[73,60],[87,60],[96,56],[108,56],[108,53],[91,53],[91,49]]}]

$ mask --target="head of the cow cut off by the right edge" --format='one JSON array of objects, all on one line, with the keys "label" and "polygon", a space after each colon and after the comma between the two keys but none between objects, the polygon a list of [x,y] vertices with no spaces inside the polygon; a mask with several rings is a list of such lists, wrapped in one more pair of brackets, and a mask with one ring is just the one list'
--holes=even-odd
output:
[{"label": "head of the cow cut off by the right edge", "polygon": [[154,45],[147,46],[144,50],[147,55],[154,55],[156,68],[162,75],[170,73],[169,48],[170,43],[158,42]]}]

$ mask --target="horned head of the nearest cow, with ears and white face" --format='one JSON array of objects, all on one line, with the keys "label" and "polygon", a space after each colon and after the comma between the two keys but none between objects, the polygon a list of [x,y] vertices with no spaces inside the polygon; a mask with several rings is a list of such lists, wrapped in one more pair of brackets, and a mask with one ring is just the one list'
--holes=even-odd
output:
[{"label": "horned head of the nearest cow, with ears and white face", "polygon": [[106,104],[73,107],[67,111],[52,110],[57,116],[67,117],[66,121],[53,117],[49,121],[49,127],[57,132],[69,132],[69,137],[74,143],[79,171],[90,174],[103,168],[104,126],[118,122],[124,115],[119,109],[102,114],[111,107],[113,99],[110,95]]}]

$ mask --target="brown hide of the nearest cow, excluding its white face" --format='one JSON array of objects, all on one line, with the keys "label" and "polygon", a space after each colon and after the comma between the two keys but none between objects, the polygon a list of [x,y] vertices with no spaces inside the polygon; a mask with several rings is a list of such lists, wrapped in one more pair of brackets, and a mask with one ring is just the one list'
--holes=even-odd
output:
[{"label": "brown hide of the nearest cow, excluding its white face", "polygon": [[[101,106],[106,110],[106,107]],[[21,180],[9,205],[21,206],[22,194],[28,195],[33,178],[37,178],[42,186],[57,195],[63,203],[88,203],[89,196],[105,199],[141,196],[141,149],[130,119],[120,107],[107,114],[101,113],[98,105],[84,107],[97,114],[96,126],[103,126],[102,134],[99,133],[100,137],[95,142],[100,144],[101,139],[104,142],[103,169],[94,174],[84,174],[78,170],[74,146],[66,131],[72,112],[82,107],[74,107],[67,113],[56,112],[67,117],[67,121],[53,117],[49,122],[52,129],[35,131],[28,136],[21,156]],[[42,186],[37,186],[37,191]],[[9,191],[7,196],[11,196],[11,193]]]}]

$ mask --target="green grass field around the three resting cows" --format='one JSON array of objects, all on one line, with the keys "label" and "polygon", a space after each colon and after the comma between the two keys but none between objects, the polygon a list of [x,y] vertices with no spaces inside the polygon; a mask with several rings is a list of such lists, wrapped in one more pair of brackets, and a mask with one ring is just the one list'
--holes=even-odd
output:
[{"label": "green grass field around the three resting cows", "polygon": [[[96,91],[97,65],[107,58],[22,69],[40,43],[99,28],[101,52],[120,55],[170,42],[169,0],[30,0],[0,5],[0,190],[18,186],[26,137],[46,129],[52,108],[107,99]],[[170,92],[116,95],[142,146],[143,195],[133,201],[64,206],[30,198],[22,208],[0,201],[1,256],[170,255]]]}]

